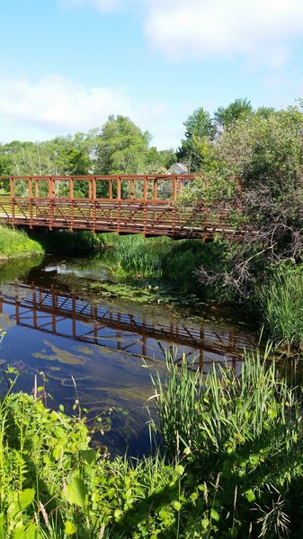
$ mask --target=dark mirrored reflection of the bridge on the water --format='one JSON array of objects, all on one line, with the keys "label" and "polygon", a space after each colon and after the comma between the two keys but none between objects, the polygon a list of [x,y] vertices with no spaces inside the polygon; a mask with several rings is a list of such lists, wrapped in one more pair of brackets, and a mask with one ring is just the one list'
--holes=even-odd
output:
[{"label": "dark mirrored reflection of the bridge on the water", "polygon": [[112,349],[117,354],[143,357],[154,362],[165,360],[165,352],[180,362],[195,359],[203,372],[213,362],[239,370],[244,349],[253,339],[234,328],[208,321],[165,319],[132,313],[110,300],[92,303],[76,294],[54,287],[11,284],[0,286],[0,313],[6,313],[20,326],[71,340]]}]

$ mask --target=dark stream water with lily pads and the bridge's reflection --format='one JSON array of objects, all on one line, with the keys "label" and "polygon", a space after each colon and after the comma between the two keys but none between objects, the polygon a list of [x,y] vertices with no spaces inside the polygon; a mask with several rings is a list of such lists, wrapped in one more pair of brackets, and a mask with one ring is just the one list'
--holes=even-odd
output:
[{"label": "dark stream water with lily pads and the bridge's reflection", "polygon": [[31,393],[46,376],[49,407],[73,413],[78,398],[90,418],[103,411],[111,430],[100,443],[132,455],[148,451],[150,374],[164,372],[167,351],[207,373],[213,362],[238,370],[254,346],[230,314],[163,287],[112,285],[102,261],[84,259],[0,268],[0,329],[0,363],[20,372],[16,390]]}]

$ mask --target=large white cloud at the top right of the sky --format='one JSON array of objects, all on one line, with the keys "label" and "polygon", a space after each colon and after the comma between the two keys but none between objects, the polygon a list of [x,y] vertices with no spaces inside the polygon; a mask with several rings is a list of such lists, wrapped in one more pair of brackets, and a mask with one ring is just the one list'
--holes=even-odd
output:
[{"label": "large white cloud at the top right of the sky", "polygon": [[303,36],[301,0],[140,0],[152,45],[173,60],[203,57],[284,62]]}]

